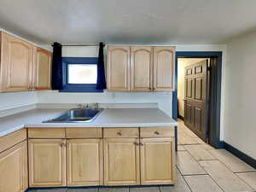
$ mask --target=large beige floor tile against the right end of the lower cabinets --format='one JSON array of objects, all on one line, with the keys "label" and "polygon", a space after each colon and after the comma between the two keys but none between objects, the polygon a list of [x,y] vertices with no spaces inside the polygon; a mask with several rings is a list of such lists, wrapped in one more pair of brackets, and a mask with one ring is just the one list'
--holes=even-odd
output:
[{"label": "large beige floor tile against the right end of the lower cabinets", "polygon": [[206,174],[187,151],[177,151],[177,168],[182,175]]}]

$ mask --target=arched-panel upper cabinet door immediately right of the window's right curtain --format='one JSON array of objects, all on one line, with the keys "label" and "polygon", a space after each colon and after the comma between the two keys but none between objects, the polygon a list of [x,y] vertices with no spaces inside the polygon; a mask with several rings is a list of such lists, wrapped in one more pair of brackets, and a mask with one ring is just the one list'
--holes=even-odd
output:
[{"label": "arched-panel upper cabinet door immediately right of the window's right curtain", "polygon": [[108,46],[108,90],[130,90],[130,47]]}]

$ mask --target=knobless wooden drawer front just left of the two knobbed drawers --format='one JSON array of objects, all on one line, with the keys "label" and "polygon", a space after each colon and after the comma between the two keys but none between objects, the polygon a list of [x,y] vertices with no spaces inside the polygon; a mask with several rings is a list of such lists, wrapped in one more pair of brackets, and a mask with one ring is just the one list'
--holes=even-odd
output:
[{"label": "knobless wooden drawer front just left of the two knobbed drawers", "polygon": [[67,138],[101,138],[102,128],[67,128]]}]

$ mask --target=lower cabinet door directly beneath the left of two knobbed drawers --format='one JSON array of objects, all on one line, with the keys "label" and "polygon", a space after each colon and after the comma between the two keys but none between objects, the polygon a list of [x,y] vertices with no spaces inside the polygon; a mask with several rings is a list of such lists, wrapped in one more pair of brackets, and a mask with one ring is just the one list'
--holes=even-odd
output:
[{"label": "lower cabinet door directly beneath the left of two knobbed drawers", "polygon": [[104,185],[140,184],[137,138],[104,139]]}]

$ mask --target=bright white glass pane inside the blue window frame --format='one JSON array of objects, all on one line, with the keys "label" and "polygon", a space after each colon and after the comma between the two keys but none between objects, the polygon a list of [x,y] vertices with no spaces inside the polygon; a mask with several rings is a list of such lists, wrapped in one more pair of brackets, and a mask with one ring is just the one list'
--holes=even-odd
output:
[{"label": "bright white glass pane inside the blue window frame", "polygon": [[96,84],[97,65],[68,64],[68,84]]}]

